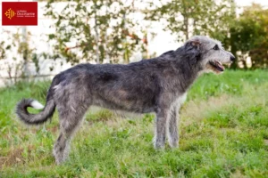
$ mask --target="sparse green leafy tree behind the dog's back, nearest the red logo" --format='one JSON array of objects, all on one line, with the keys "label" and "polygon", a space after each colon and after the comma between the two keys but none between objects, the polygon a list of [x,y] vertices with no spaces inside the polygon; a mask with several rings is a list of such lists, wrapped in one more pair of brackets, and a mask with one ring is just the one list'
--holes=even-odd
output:
[{"label": "sparse green leafy tree behind the dog's back, nearest the red logo", "polygon": [[63,57],[71,63],[79,61],[129,61],[136,44],[143,36],[131,33],[135,22],[129,15],[132,3],[121,0],[68,1],[63,11],[56,12],[54,0],[46,5],[46,16],[55,21],[54,58]]}]

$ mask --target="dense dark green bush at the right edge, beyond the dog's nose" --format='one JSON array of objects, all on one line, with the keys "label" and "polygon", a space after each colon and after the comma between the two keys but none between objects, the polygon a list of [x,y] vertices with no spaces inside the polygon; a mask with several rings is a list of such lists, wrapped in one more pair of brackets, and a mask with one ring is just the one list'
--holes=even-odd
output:
[{"label": "dense dark green bush at the right edge, beyond the dog's nose", "polygon": [[252,61],[252,69],[267,68],[268,65],[268,10],[259,4],[252,4],[236,20],[230,29],[230,45],[232,53],[241,52],[239,61],[247,69],[246,54]]}]

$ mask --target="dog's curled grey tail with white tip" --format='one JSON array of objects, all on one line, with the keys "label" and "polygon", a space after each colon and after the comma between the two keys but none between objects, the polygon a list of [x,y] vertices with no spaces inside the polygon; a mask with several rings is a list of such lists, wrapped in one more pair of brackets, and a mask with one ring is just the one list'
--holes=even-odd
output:
[{"label": "dog's curled grey tail with white tip", "polygon": [[[28,107],[34,109],[42,109],[38,114],[30,114],[27,110]],[[46,96],[46,106],[44,106],[33,99],[22,99],[16,108],[17,116],[27,125],[38,125],[46,122],[46,120],[53,116],[55,103],[51,88]]]}]

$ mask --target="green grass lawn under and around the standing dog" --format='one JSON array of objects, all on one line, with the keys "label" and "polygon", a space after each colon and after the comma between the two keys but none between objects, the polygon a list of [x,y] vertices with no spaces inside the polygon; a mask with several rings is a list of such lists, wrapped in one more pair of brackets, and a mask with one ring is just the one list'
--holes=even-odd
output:
[{"label": "green grass lawn under and around the standing dog", "polygon": [[14,115],[22,97],[45,103],[49,85],[0,89],[0,177],[268,177],[268,71],[200,77],[180,112],[180,149],[154,150],[153,115],[89,110],[62,166],[52,157],[57,115],[38,127]]}]

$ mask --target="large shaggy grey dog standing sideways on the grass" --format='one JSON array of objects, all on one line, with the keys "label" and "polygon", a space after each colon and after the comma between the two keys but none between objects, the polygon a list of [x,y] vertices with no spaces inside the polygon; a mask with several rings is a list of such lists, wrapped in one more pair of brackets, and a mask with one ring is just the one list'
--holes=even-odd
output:
[{"label": "large shaggy grey dog standing sideways on the grass", "polygon": [[[23,99],[16,113],[28,125],[38,125],[53,116],[60,117],[60,134],[54,143],[56,163],[69,154],[71,135],[82,122],[89,106],[136,113],[155,112],[155,148],[162,149],[168,136],[171,147],[179,145],[177,120],[190,85],[205,71],[221,73],[222,63],[234,56],[222,44],[206,36],[194,36],[175,51],[150,60],[123,64],[79,64],[56,75],[46,106]],[[30,114],[28,107],[42,109]]]}]

